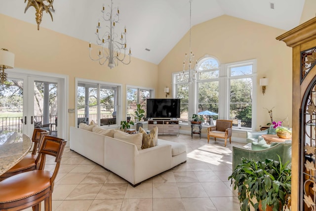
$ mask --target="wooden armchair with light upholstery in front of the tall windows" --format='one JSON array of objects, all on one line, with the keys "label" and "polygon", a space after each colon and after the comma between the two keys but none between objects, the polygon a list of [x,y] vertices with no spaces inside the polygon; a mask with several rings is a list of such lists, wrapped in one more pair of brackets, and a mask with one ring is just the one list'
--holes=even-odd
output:
[{"label": "wooden armchair with light upholstery in front of the tall windows", "polygon": [[226,147],[227,138],[229,138],[229,142],[232,143],[232,131],[232,120],[216,120],[216,126],[207,128],[207,143],[209,142],[209,137],[214,137],[215,141],[216,138],[223,138]]}]

